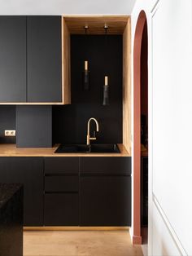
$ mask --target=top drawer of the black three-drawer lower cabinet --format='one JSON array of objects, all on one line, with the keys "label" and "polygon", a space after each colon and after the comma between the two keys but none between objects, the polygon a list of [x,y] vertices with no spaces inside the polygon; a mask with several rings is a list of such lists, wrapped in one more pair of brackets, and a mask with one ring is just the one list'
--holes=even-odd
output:
[{"label": "top drawer of the black three-drawer lower cabinet", "polygon": [[45,174],[78,174],[79,157],[45,157]]}]

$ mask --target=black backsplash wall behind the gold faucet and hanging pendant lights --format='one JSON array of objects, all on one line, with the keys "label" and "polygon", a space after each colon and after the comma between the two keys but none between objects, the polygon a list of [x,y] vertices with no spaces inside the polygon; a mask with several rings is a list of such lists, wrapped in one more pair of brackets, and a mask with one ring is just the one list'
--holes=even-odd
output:
[{"label": "black backsplash wall behind the gold faucet and hanging pendant lights", "polygon": [[[85,60],[89,60],[89,91],[82,86]],[[53,107],[54,143],[86,143],[90,117],[99,123],[94,143],[122,143],[122,61],[122,36],[72,35],[72,104]],[[103,106],[105,75],[109,77],[109,106]],[[94,127],[92,123],[91,135]]]}]

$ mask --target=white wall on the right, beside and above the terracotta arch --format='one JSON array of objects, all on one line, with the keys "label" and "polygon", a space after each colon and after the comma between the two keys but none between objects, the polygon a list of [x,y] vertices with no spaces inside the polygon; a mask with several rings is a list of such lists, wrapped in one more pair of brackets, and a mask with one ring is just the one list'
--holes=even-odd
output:
[{"label": "white wall on the right, beside and above the terracotta arch", "polygon": [[155,3],[132,16],[149,30],[149,255],[192,255],[192,1]]}]

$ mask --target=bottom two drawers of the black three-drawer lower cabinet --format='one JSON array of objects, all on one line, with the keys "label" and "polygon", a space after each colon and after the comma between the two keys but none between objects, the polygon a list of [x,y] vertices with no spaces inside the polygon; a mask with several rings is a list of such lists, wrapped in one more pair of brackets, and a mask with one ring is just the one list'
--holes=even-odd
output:
[{"label": "bottom two drawers of the black three-drawer lower cabinet", "polygon": [[45,226],[79,225],[79,176],[45,176]]}]

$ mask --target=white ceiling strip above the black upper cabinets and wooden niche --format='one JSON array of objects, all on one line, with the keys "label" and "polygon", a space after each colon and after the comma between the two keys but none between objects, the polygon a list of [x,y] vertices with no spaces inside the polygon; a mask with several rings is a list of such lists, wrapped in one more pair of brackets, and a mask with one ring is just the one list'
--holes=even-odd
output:
[{"label": "white ceiling strip above the black upper cabinets and wooden niche", "polygon": [[130,15],[136,0],[0,0],[0,15]]}]

